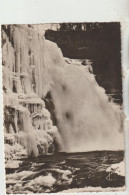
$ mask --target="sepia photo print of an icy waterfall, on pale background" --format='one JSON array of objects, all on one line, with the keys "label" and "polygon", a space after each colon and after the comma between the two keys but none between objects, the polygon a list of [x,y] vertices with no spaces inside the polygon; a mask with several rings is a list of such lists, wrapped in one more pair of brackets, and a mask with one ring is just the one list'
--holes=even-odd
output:
[{"label": "sepia photo print of an icy waterfall, on pale background", "polygon": [[120,22],[1,25],[7,194],[124,191]]}]

